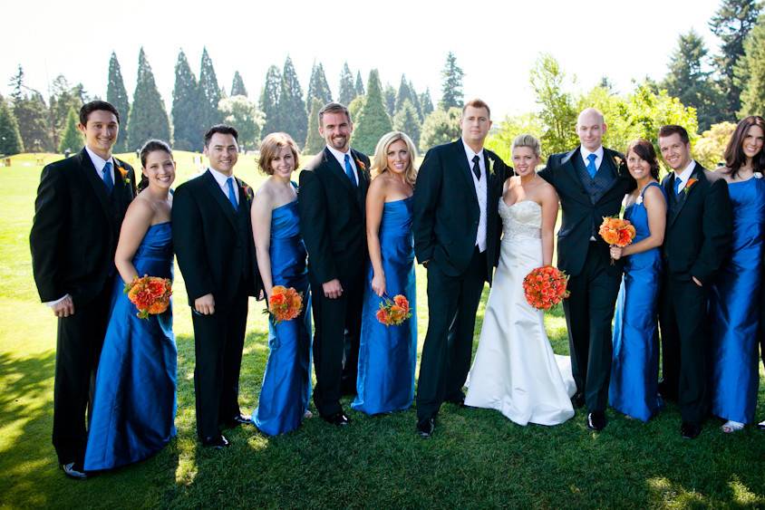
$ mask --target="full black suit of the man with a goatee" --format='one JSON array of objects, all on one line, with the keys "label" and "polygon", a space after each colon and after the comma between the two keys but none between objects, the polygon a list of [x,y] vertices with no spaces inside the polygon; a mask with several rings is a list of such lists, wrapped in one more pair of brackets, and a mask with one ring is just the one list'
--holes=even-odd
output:
[{"label": "full black suit of the man with a goatee", "polygon": [[[329,149],[300,172],[297,205],[308,252],[314,313],[314,402],[319,414],[341,412],[341,386],[356,387],[366,245],[365,201],[369,159],[350,149],[358,175],[353,185]],[[322,284],[338,279],[343,293],[324,296]],[[347,340],[345,339],[347,332]],[[346,345],[347,344],[347,345]]]}]

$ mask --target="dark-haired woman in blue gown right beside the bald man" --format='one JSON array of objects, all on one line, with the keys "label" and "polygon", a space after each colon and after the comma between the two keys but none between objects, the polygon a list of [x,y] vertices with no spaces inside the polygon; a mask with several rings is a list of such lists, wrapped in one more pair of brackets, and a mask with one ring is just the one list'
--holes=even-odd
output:
[{"label": "dark-haired woman in blue gown right beside the bald man", "polygon": [[662,407],[657,305],[667,203],[657,182],[654,145],[634,140],[627,147],[626,162],[637,188],[625,197],[625,219],[633,223],[636,236],[631,245],[611,247],[612,258],[627,258],[616,301],[608,400],[619,412],[648,421]]}]

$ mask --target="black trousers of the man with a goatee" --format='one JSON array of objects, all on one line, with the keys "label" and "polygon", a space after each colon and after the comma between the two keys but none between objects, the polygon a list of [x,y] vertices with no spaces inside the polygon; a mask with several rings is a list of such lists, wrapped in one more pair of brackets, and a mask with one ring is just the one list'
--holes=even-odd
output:
[{"label": "black trousers of the man with a goatee", "polygon": [[343,293],[336,299],[324,296],[322,284],[311,280],[314,312],[314,403],[319,414],[342,412],[343,386],[355,389],[362,329],[363,265],[353,277],[341,279]]}]

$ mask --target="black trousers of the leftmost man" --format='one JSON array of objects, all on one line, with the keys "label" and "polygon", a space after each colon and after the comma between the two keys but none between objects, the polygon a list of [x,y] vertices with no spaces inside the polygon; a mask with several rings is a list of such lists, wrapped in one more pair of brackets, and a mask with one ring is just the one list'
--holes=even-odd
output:
[{"label": "black trousers of the leftmost man", "polygon": [[[111,285],[90,303],[58,320],[53,382],[53,447],[60,464],[82,461],[88,440],[92,391],[109,320]],[[85,413],[88,412],[88,419]]]}]

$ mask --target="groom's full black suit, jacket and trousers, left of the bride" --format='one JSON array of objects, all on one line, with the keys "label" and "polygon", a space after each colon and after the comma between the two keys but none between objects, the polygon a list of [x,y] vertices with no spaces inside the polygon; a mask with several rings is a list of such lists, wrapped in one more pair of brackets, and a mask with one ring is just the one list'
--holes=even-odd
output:
[{"label": "groom's full black suit, jacket and trousers, left of the bride", "polygon": [[414,253],[427,262],[430,322],[422,348],[418,419],[438,413],[444,400],[464,398],[476,311],[484,282],[499,260],[498,204],[512,170],[483,149],[486,171],[486,250],[476,245],[479,200],[462,140],[434,147],[414,187]]}]

